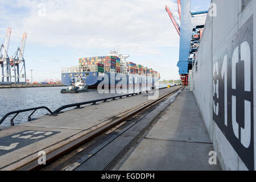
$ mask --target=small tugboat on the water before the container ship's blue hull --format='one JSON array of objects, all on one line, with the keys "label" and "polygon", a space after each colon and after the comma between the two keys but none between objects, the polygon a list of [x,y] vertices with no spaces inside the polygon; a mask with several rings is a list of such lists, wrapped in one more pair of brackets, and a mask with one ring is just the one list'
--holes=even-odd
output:
[{"label": "small tugboat on the water before the container ship's blue hull", "polygon": [[71,81],[71,86],[67,89],[62,89],[60,93],[79,93],[86,92],[88,85],[85,85],[84,80],[81,77],[77,77],[76,81]]}]

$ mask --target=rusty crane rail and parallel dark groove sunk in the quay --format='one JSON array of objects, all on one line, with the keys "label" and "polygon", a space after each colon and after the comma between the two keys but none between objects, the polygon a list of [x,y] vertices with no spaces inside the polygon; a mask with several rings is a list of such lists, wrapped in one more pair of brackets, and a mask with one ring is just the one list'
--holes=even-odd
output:
[{"label": "rusty crane rail and parallel dark groove sunk in the quay", "polygon": [[[49,152],[46,155],[46,165],[39,164],[38,160],[34,160],[30,163],[27,163],[25,166],[20,167],[18,170],[30,171],[40,169],[77,169],[82,166],[81,164],[84,162],[92,161],[93,156],[95,156],[95,154],[97,154],[99,151],[102,151],[102,148],[106,148],[108,144],[113,143],[113,141],[116,140],[120,135],[124,134],[126,131],[134,127],[139,121],[145,118],[148,113],[153,111],[157,106],[159,106],[160,103],[167,100],[171,94],[176,93],[182,88],[183,86],[177,86],[177,88],[171,90],[171,92],[159,96],[158,99],[147,102],[145,105],[122,115],[114,121],[111,121],[104,126],[98,127],[95,130],[92,130],[90,133],[80,137],[79,139],[73,140],[71,143],[68,143],[63,147]],[[157,118],[159,118],[159,114],[160,113],[156,114],[155,119],[153,118],[151,122],[148,122],[146,126],[143,126],[142,130],[138,131],[138,134],[134,138],[129,141],[121,142],[123,147],[117,151],[118,153],[113,154],[113,157],[110,157],[109,161],[105,162],[106,164],[101,163],[103,165],[102,167],[100,167],[101,165],[98,165],[98,167],[101,170],[112,169],[119,162],[119,160],[122,159],[122,157],[135,145],[135,143],[138,142],[146,130],[148,130],[157,120]],[[80,169],[83,168],[80,167]]]}]

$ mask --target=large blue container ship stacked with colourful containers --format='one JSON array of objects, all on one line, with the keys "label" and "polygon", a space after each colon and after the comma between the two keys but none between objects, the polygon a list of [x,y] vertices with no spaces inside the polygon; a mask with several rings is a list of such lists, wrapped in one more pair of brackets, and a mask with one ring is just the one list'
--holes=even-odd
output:
[{"label": "large blue container ship stacked with colourful containers", "polygon": [[160,79],[160,74],[152,68],[126,61],[129,55],[118,51],[110,51],[108,56],[79,58],[79,66],[62,68],[61,82],[70,85],[81,77],[88,88],[95,89],[102,82],[102,77],[108,78],[109,88],[115,87],[123,78],[124,86],[154,86]]}]

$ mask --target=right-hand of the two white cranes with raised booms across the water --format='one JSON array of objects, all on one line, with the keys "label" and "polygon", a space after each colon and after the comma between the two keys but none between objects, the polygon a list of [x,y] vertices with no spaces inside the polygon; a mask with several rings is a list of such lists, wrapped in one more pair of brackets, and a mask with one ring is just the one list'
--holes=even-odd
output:
[{"label": "right-hand of the two white cranes with raised booms across the water", "polygon": [[[25,66],[25,60],[24,60],[24,50],[25,50],[25,45],[26,45],[26,40],[27,40],[27,33],[23,33],[23,38],[20,43],[20,46],[14,53],[14,55],[11,57],[10,60],[10,65],[11,67],[14,68],[14,78],[15,78],[15,83],[20,82],[20,78],[24,78],[26,82],[27,77],[26,77],[26,66]],[[20,64],[22,65],[22,69],[19,71]],[[22,73],[23,71],[23,73]]]}]

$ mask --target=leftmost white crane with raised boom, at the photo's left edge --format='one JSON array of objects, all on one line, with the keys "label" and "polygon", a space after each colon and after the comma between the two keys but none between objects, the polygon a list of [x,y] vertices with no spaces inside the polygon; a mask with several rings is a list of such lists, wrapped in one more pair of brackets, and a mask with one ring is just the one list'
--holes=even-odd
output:
[{"label": "leftmost white crane with raised boom, at the photo's left edge", "polygon": [[[10,59],[8,56],[8,49],[9,49],[9,43],[11,38],[11,28],[7,28],[7,33],[5,36],[5,41],[3,44],[1,44],[0,48],[0,65],[1,65],[1,81],[9,82],[11,81],[11,75],[10,75]],[[6,68],[6,69],[5,69]],[[10,80],[9,80],[10,78]]]}]

